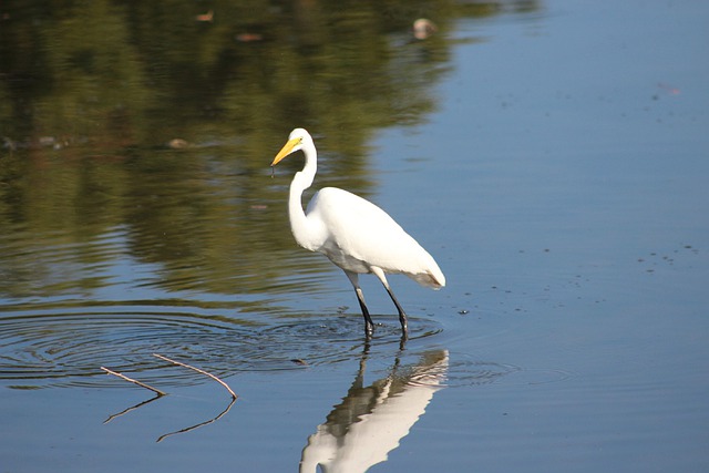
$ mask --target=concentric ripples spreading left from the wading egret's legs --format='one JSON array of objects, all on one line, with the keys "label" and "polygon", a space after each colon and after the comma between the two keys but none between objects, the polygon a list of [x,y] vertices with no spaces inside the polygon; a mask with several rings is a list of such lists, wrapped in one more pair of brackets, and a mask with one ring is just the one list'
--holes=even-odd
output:
[{"label": "concentric ripples spreading left from the wading egret's legs", "polygon": [[[440,331],[429,320],[413,326],[411,339]],[[158,388],[196,384],[206,382],[204,377],[152,354],[226,378],[239,371],[292,370],[350,360],[352,352],[361,351],[362,330],[361,317],[354,316],[304,317],[264,326],[165,311],[8,317],[0,323],[0,379],[18,389],[115,387],[115,378],[101,371],[103,366]],[[372,345],[399,343],[398,320],[376,330]]]}]

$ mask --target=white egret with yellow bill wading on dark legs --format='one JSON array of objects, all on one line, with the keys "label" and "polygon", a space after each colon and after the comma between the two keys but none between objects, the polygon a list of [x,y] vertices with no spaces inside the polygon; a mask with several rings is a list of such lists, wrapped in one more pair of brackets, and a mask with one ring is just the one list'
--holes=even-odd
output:
[{"label": "white egret with yellow bill wading on dark legs", "polygon": [[271,167],[300,150],[305,153],[306,164],[294,176],[288,197],[290,229],[296,241],[310,251],[322,253],[342,268],[354,287],[368,338],[374,325],[359,287],[359,275],[371,273],[377,276],[397,306],[405,337],[407,315],[389,287],[386,274],[404,274],[423,286],[440,289],[445,286],[443,273],[433,257],[393,218],[362,197],[337,187],[323,187],[312,196],[304,212],[302,192],[312,184],[318,167],[310,134],[302,128],[290,132]]}]

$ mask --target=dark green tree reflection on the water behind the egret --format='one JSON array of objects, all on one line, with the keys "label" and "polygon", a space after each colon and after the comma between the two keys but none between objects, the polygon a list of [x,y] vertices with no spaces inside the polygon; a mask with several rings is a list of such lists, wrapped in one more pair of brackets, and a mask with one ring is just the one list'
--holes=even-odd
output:
[{"label": "dark green tree reflection on the water behind the egret", "polygon": [[[317,186],[368,194],[372,135],[425,120],[446,32],[496,4],[3,2],[0,294],[284,290],[287,133],[315,132]],[[439,30],[414,41],[421,16]]]}]

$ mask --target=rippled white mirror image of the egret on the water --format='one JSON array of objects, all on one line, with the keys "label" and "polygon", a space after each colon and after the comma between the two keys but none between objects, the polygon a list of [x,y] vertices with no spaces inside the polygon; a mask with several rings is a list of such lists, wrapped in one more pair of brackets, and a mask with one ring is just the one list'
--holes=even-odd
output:
[{"label": "rippled white mirror image of the egret on the water", "polygon": [[390,451],[444,388],[448,350],[424,352],[418,363],[400,366],[397,358],[387,378],[364,387],[368,349],[342,402],[332,409],[325,423],[308,438],[302,450],[300,472],[366,472],[387,461]]}]

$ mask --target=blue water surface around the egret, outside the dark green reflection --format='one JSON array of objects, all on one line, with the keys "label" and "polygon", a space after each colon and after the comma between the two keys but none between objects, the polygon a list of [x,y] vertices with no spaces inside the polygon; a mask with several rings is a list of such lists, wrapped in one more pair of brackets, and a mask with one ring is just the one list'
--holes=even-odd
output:
[{"label": "blue water surface around the egret, outside the dark green reflection", "polygon": [[[411,316],[403,349],[374,278],[362,287],[383,325],[366,347],[346,277],[295,245],[267,263],[294,268],[273,294],[161,285],[160,267],[123,259],[95,271],[112,284],[83,311],[8,298],[0,471],[296,471],[320,431],[352,449],[337,471],[363,471],[386,442],[359,444],[358,429],[407,420],[369,471],[707,471],[708,20],[701,2],[549,1],[444,33],[455,45],[435,110],[383,128],[367,160],[368,197],[448,279],[438,292],[390,279]],[[285,202],[289,174],[270,181],[270,158],[263,185]],[[259,222],[285,212],[268,204]],[[119,228],[103,250],[131,237]],[[160,350],[239,398],[157,443],[230,402]],[[42,359],[59,379],[35,373]],[[152,393],[101,362],[169,394],[104,423]],[[343,402],[353,420],[335,413]]]}]

